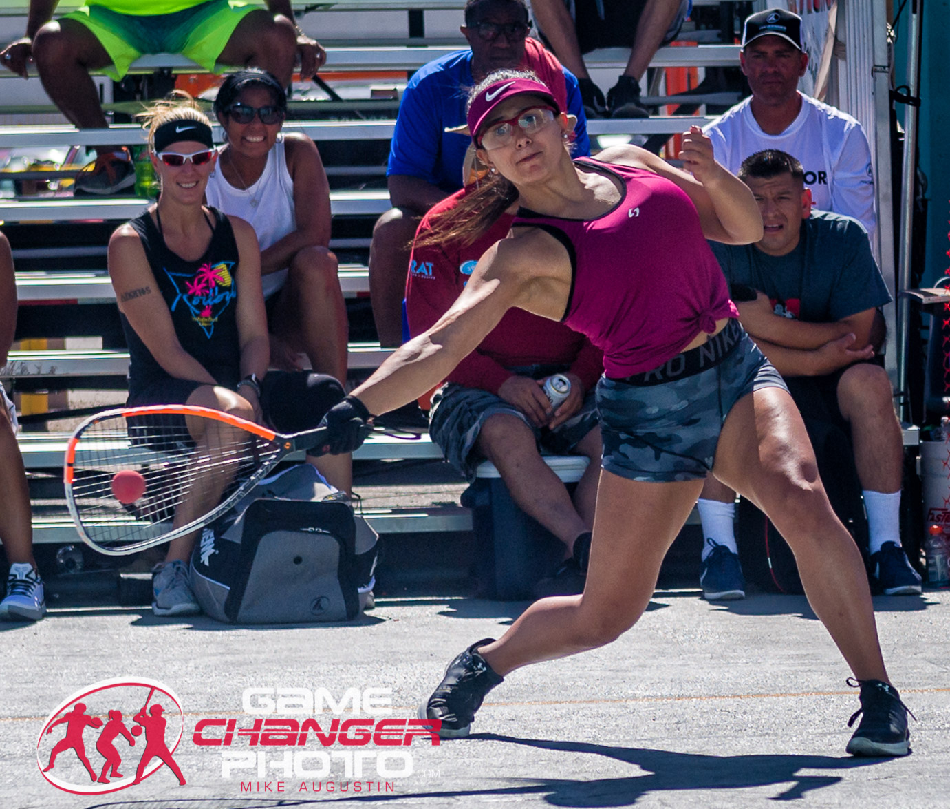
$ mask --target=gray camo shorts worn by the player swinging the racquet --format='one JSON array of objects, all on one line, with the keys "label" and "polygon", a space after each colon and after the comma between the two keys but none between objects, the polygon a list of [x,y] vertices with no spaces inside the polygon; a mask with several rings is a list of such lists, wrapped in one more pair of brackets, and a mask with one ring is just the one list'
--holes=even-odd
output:
[{"label": "gray camo shorts worn by the player swinging the racquet", "polygon": [[[700,350],[693,349],[645,375],[671,377],[658,384],[600,377],[601,465],[607,472],[655,483],[704,478],[712,470],[719,433],[732,405],[763,388],[788,390],[759,347],[735,326],[727,327],[735,340],[725,356],[706,370],[678,375],[691,365],[683,358],[695,359],[693,352]],[[727,329],[720,335],[726,336]]]}]

